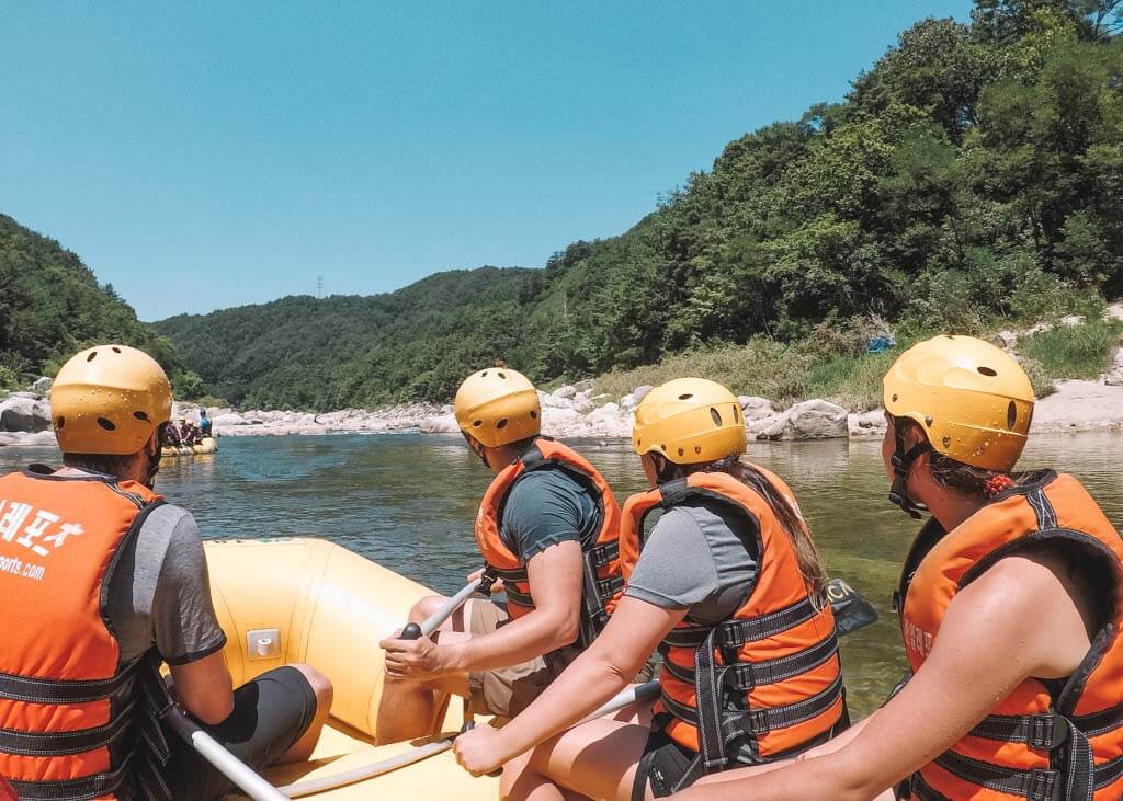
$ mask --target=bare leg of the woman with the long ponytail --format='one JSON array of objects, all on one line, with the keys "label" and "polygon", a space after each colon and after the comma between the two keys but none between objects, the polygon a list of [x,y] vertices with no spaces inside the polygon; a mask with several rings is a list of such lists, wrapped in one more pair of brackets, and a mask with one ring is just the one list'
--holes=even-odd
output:
[{"label": "bare leg of the woman with the long ponytail", "polygon": [[547,740],[529,756],[509,763],[501,797],[510,801],[630,801],[636,767],[651,734],[650,709],[648,702]]}]

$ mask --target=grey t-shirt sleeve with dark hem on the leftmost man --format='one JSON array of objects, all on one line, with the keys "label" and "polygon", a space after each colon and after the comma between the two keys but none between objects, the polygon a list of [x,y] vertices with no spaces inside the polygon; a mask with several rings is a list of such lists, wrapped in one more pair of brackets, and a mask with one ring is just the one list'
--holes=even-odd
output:
[{"label": "grey t-shirt sleeve with dark hem on the leftmost man", "polygon": [[182,665],[226,645],[199,526],[190,513],[168,504],[148,515],[120,554],[107,614],[121,664],[155,646],[165,662]]}]

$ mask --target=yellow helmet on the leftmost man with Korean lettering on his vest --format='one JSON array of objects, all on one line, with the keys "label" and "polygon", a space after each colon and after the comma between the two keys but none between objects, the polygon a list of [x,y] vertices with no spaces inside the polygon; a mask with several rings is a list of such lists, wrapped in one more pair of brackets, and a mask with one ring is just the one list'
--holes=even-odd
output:
[{"label": "yellow helmet on the leftmost man with Korean lettering on his vest", "polygon": [[124,344],[83,350],[51,388],[51,418],[64,453],[136,453],[171,416],[164,369]]}]

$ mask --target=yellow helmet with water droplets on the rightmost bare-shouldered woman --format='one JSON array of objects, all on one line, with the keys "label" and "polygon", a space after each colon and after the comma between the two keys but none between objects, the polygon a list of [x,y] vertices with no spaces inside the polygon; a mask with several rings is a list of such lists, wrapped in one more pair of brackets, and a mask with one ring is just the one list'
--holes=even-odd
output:
[{"label": "yellow helmet with water droplets on the rightmost bare-shouldered woman", "polygon": [[965,464],[1010,471],[1025,446],[1033,388],[1022,366],[974,337],[934,337],[885,374],[885,408],[915,421],[932,450]]}]

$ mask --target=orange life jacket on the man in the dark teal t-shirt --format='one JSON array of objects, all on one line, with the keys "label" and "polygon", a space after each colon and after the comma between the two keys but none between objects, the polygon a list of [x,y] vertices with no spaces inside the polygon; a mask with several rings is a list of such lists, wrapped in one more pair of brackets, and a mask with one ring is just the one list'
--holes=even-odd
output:
[{"label": "orange life jacket on the man in the dark teal t-shirt", "polygon": [[596,540],[582,543],[584,551],[584,590],[579,642],[588,645],[604,628],[623,589],[620,576],[620,507],[604,477],[572,448],[540,438],[522,458],[503,469],[487,487],[476,515],[476,545],[486,563],[486,574],[503,580],[506,606],[512,618],[535,608],[527,565],[500,536],[503,507],[518,481],[536,470],[564,470],[584,487],[596,503],[601,528]]}]

